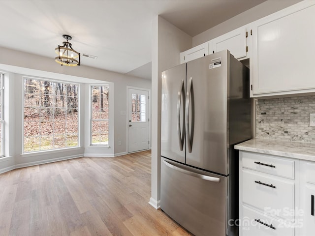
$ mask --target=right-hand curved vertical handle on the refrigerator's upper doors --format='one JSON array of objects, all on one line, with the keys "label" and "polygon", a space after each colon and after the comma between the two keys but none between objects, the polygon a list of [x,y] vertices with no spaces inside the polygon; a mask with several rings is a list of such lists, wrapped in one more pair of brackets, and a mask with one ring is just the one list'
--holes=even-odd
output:
[{"label": "right-hand curved vertical handle on the refrigerator's upper doors", "polygon": [[[193,134],[193,101],[191,101],[191,134],[189,133],[189,103],[190,103],[190,95],[192,98],[192,77],[189,79],[189,86],[187,87],[186,92],[186,106],[185,106],[185,124],[186,124],[186,141],[188,145],[188,152],[191,153],[191,147],[192,147],[192,134]],[[191,99],[192,100],[192,99]]]}]

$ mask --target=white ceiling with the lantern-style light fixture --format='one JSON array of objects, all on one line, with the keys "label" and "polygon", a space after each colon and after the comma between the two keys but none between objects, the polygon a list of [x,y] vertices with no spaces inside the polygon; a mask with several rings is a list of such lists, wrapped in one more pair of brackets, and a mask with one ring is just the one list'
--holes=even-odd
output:
[{"label": "white ceiling with the lantern-style light fixture", "polygon": [[264,0],[0,0],[0,47],[55,58],[72,36],[81,64],[151,78],[152,20],[195,36]]}]

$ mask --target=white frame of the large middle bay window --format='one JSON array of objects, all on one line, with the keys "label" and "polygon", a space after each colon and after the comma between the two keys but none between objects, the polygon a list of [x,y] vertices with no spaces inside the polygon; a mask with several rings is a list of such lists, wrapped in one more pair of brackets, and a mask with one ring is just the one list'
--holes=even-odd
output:
[{"label": "white frame of the large middle bay window", "polygon": [[[31,79],[31,80],[38,80],[38,81],[47,81],[49,83],[60,83],[60,84],[70,84],[70,85],[75,85],[77,86],[77,95],[76,95],[76,98],[77,98],[77,145],[76,146],[69,146],[69,147],[63,147],[63,148],[52,148],[52,149],[41,149],[40,146],[39,146],[39,150],[31,150],[31,151],[25,151],[24,149],[24,138],[25,138],[25,134],[24,134],[24,131],[25,131],[25,127],[24,127],[24,122],[25,122],[25,118],[24,118],[24,108],[25,108],[25,94],[29,94],[29,93],[26,93],[25,92],[25,81],[27,79]],[[81,92],[80,92],[80,89],[81,89],[81,85],[79,83],[74,83],[72,81],[63,81],[63,80],[57,80],[57,79],[51,79],[51,78],[43,78],[43,77],[32,77],[32,76],[22,76],[22,80],[23,80],[23,85],[22,85],[22,89],[23,89],[23,92],[22,92],[22,155],[23,156],[27,156],[28,154],[33,154],[33,155],[36,155],[36,154],[39,154],[39,153],[43,153],[43,152],[58,152],[58,151],[62,151],[64,149],[77,149],[77,148],[80,148],[80,96],[81,96]],[[49,94],[49,95],[52,95],[52,96],[56,96],[55,94]],[[65,95],[65,97],[67,97],[67,95]],[[52,108],[56,108],[55,106],[53,106]],[[67,108],[67,107],[66,107]],[[66,126],[66,118],[65,118],[65,126]],[[53,137],[55,137],[55,130],[53,132]],[[66,144],[66,134],[67,132],[64,132],[63,134],[65,134],[65,144]],[[39,134],[38,137],[40,138],[41,136],[45,136],[45,135],[41,135]],[[66,146],[66,145],[65,145]]]}]

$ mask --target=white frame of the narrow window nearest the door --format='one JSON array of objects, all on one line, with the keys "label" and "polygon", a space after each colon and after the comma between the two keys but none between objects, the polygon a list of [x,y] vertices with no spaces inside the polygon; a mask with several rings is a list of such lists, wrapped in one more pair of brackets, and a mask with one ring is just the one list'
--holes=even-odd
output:
[{"label": "white frame of the narrow window nearest the door", "polygon": [[[110,91],[110,84],[109,83],[105,83],[105,84],[90,84],[89,85],[89,127],[90,127],[90,132],[89,132],[89,147],[109,147],[109,144],[110,144],[110,97],[107,95],[107,99],[108,99],[108,118],[105,119],[93,119],[93,116],[92,116],[92,109],[93,109],[93,92],[92,92],[92,88],[93,87],[107,87],[108,88],[108,94],[109,94],[109,91]],[[112,92],[111,92],[112,94]],[[107,121],[108,123],[108,130],[107,130],[107,136],[108,136],[108,141],[107,141],[107,144],[93,144],[92,143],[92,135],[93,135],[93,132],[92,132],[92,121]]]}]

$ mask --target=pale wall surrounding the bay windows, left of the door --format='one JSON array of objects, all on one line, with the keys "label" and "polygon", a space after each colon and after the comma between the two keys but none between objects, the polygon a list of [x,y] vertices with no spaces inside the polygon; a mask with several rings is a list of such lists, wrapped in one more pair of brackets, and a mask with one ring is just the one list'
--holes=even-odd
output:
[{"label": "pale wall surrounding the bay windows, left of the door", "polygon": [[[0,159],[0,172],[3,172],[12,165],[16,167],[22,167],[30,164],[36,164],[37,162],[49,161],[53,159],[63,158],[67,156],[69,158],[76,156],[83,156],[84,153],[95,153],[102,156],[114,156],[120,154],[126,154],[126,133],[127,133],[127,118],[126,115],[120,115],[121,111],[127,110],[126,105],[126,87],[138,87],[144,89],[151,89],[151,81],[146,79],[140,79],[133,76],[123,75],[111,71],[106,71],[98,68],[88,66],[60,66],[53,58],[46,58],[29,53],[19,52],[7,48],[0,47],[0,71],[6,72],[6,76],[9,76],[9,89],[11,91],[11,97],[9,98],[9,122],[10,124],[10,146],[7,147],[10,150],[9,155],[11,158]],[[14,72],[14,73],[12,73]],[[80,132],[83,137],[80,137],[81,148],[74,148],[70,151],[64,152],[49,152],[54,154],[37,155],[22,155],[22,75],[37,76],[43,78],[59,79],[66,81],[75,81],[81,84],[81,117],[80,117]],[[111,147],[107,148],[89,148],[88,143],[84,139],[85,127],[89,125],[89,121],[86,120],[84,114],[87,110],[86,100],[88,98],[85,95],[87,91],[87,84],[97,84],[109,82],[110,99],[112,98],[113,105],[112,110],[112,127],[111,129]],[[12,109],[13,108],[13,109]],[[6,130],[8,131],[8,130]],[[118,141],[122,142],[122,145],[118,145]],[[12,146],[14,148],[12,148]],[[88,151],[88,152],[87,152]],[[7,153],[6,153],[7,154]],[[12,161],[14,160],[14,161]]]}]

